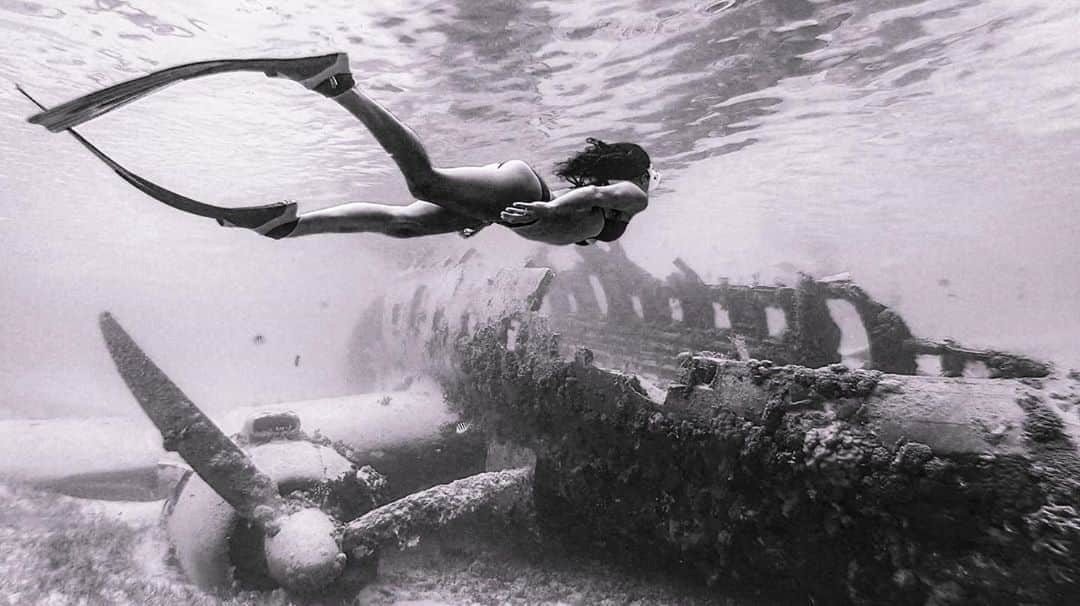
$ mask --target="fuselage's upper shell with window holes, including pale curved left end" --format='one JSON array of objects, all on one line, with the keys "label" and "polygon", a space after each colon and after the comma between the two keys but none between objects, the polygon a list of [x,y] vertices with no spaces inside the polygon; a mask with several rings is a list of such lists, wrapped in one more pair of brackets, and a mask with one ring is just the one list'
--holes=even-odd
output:
[{"label": "fuselage's upper shell with window holes, including pale curved left end", "polygon": [[[473,251],[459,259],[429,259],[365,309],[349,353],[350,381],[369,391],[437,363],[453,342],[472,334],[495,307],[541,311],[563,335],[570,355],[589,348],[597,364],[666,382],[684,351],[819,367],[846,361],[831,305],[842,301],[865,332],[865,350],[845,352],[851,365],[913,375],[919,363],[946,377],[1043,377],[1051,366],[1030,358],[913,335],[903,317],[848,279],[794,286],[705,283],[681,259],[661,280],[626,257],[619,244],[582,246],[579,262],[553,272],[541,253],[528,268],[495,277]],[[491,305],[491,302],[496,305]],[[541,305],[542,302],[542,305]],[[777,326],[779,325],[779,326]]]}]

